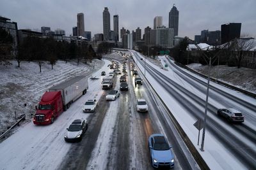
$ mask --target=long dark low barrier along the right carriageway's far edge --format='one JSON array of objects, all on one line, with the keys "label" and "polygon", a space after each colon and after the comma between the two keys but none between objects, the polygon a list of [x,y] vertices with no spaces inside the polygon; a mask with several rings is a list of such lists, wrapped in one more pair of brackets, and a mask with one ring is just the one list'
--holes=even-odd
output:
[{"label": "long dark low barrier along the right carriageway's far edge", "polygon": [[[202,77],[204,77],[204,78],[207,78],[207,75],[202,74],[202,73],[198,73],[197,71],[195,71],[195,70],[189,68],[188,66],[184,66],[183,64],[180,64],[179,62],[175,62],[175,64],[177,64],[178,66],[183,67],[183,68],[185,68],[185,69],[188,69],[189,71],[191,71],[191,72],[193,72],[193,73],[195,73],[195,74],[198,74],[199,76],[202,76]],[[252,93],[252,92],[248,92],[248,91],[243,90],[243,89],[240,89],[240,88],[238,88],[238,87],[236,87],[236,86],[234,86],[234,85],[230,85],[230,84],[228,84],[228,83],[224,83],[223,81],[216,80],[216,78],[211,78],[211,77],[210,77],[210,79],[211,79],[211,81],[214,81],[215,83],[219,83],[219,84],[221,84],[221,85],[225,85],[226,87],[228,87],[228,88],[230,88],[230,89],[237,90],[237,91],[242,92],[243,94],[246,94],[246,95],[248,95],[248,96],[250,96],[250,97],[256,98],[256,94],[254,94],[254,93]]]}]

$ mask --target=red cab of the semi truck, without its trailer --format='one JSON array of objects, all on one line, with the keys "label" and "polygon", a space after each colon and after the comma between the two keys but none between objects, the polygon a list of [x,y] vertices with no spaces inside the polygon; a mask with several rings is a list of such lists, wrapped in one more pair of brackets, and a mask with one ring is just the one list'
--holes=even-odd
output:
[{"label": "red cab of the semi truck, without its trailer", "polygon": [[63,112],[61,92],[45,92],[36,107],[33,123],[36,125],[52,124]]}]

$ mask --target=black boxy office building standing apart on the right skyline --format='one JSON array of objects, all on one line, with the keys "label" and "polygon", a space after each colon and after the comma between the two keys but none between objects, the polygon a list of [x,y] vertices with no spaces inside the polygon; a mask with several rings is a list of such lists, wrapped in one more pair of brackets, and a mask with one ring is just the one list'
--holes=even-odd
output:
[{"label": "black boxy office building standing apart on the right skyline", "polygon": [[221,25],[221,44],[234,38],[240,38],[241,23],[228,23]]}]

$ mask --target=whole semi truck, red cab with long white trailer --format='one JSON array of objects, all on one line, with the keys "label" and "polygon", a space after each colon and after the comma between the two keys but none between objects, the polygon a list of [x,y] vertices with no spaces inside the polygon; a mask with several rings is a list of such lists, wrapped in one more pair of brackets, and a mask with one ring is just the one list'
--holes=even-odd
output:
[{"label": "whole semi truck, red cab with long white trailer", "polygon": [[88,77],[76,76],[48,89],[36,106],[33,119],[35,125],[52,124],[70,104],[86,94],[88,90]]}]

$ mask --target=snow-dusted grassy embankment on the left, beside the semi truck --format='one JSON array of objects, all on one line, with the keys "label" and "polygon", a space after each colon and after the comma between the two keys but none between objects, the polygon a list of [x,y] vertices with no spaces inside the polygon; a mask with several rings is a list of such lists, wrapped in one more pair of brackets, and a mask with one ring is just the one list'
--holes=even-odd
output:
[{"label": "snow-dusted grassy embankment on the left, beside the semi truck", "polygon": [[36,62],[21,62],[20,67],[15,60],[10,62],[10,66],[0,65],[0,133],[14,124],[15,112],[17,117],[26,114],[30,122],[40,97],[52,85],[74,76],[90,75],[104,64],[102,60],[80,62],[79,66],[76,61],[58,61],[53,69],[45,63],[40,73]]}]

